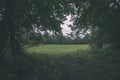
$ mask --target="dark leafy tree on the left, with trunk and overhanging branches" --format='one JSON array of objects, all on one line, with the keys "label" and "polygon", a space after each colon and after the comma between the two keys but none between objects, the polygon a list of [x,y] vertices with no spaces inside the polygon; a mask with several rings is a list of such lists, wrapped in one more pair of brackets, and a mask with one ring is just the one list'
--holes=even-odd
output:
[{"label": "dark leafy tree on the left, with trunk and overhanging branches", "polygon": [[[68,0],[0,0],[0,55],[20,52],[21,28],[60,31]],[[1,14],[1,13],[0,13]]]}]

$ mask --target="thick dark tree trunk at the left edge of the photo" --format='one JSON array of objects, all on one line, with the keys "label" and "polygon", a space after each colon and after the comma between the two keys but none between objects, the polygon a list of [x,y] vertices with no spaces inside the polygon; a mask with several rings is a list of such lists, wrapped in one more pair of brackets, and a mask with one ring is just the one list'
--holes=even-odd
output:
[{"label": "thick dark tree trunk at the left edge of the photo", "polygon": [[16,0],[5,0],[5,12],[0,23],[0,56],[15,53],[15,3]]}]

